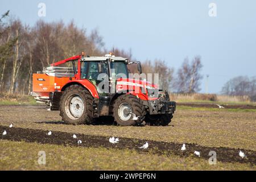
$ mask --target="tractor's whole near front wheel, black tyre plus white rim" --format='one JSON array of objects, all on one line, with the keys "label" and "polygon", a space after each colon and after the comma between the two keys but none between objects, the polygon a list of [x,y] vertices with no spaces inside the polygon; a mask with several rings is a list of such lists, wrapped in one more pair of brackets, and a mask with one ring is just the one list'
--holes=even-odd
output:
[{"label": "tractor's whole near front wheel, black tyre plus white rim", "polygon": [[113,116],[119,126],[140,125],[145,114],[142,101],[131,94],[119,96],[114,101]]}]

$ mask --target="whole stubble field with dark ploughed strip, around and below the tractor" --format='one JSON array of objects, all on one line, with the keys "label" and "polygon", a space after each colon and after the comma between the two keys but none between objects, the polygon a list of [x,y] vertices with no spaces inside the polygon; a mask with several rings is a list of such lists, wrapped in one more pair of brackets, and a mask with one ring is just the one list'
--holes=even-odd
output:
[{"label": "whole stubble field with dark ploughed strip, around and below the tractor", "polygon": [[[0,106],[0,119],[1,170],[256,169],[253,106],[218,109],[178,104],[169,126],[120,127],[109,118],[97,125],[65,125],[59,111],[44,106]],[[7,135],[2,135],[4,130]],[[110,137],[118,137],[119,142],[110,143]],[[147,149],[139,148],[146,142]],[[186,150],[180,151],[183,143]],[[240,150],[246,158],[238,155]],[[45,165],[38,164],[39,151],[46,152]],[[194,151],[200,151],[200,158]],[[217,154],[215,165],[208,163],[210,151]]]}]

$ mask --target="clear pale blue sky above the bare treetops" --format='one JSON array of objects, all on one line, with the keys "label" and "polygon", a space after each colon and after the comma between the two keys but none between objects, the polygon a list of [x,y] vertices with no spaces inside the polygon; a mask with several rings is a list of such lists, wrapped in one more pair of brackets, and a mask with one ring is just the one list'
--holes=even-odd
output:
[{"label": "clear pale blue sky above the bare treetops", "polygon": [[[46,17],[38,16],[38,4],[46,4]],[[208,15],[216,3],[217,16]],[[209,92],[218,93],[230,78],[256,76],[256,1],[35,1],[1,0],[0,13],[11,14],[31,26],[72,19],[88,31],[98,28],[105,47],[126,49],[138,60],[163,59],[177,70],[185,57],[201,55]]]}]

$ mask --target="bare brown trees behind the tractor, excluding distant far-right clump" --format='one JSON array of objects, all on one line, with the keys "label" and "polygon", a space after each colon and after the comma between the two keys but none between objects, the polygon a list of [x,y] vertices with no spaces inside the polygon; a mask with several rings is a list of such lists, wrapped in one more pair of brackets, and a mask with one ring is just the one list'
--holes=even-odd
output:
[{"label": "bare brown trees behind the tractor, excluding distant far-right clump", "polygon": [[[80,54],[101,56],[113,52],[116,56],[136,60],[131,51],[107,49],[97,30],[91,32],[77,27],[72,21],[47,23],[38,20],[34,26],[23,24],[18,18],[9,18],[9,11],[0,18],[0,91],[28,94],[32,89],[32,73],[56,61]],[[184,59],[177,70],[168,67],[166,61],[144,60],[144,73],[159,73],[160,86],[172,92],[193,93],[200,91],[201,57],[192,61]],[[131,67],[131,72],[135,68]]]}]

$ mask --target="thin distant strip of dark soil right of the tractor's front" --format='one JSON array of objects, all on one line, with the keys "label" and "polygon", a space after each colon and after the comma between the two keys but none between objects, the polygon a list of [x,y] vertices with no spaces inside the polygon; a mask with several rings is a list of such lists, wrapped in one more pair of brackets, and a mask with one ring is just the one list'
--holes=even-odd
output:
[{"label": "thin distant strip of dark soil right of the tractor's front", "polygon": [[[216,104],[177,103],[177,106],[218,108]],[[221,104],[221,106],[225,107],[226,109],[256,109],[256,106],[253,106],[253,105],[222,105]]]}]

